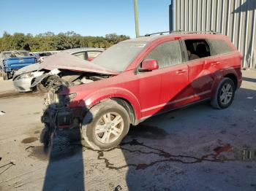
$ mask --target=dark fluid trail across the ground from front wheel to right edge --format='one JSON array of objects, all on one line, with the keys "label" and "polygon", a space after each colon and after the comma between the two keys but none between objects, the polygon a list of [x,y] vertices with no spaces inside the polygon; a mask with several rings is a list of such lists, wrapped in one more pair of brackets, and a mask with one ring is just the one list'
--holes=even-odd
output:
[{"label": "dark fluid trail across the ground from front wheel to right edge", "polygon": [[[127,146],[133,146],[133,147],[137,146],[138,148],[144,147],[146,148],[146,151],[142,151],[142,149],[130,149],[129,147],[127,148]],[[225,161],[227,162],[227,161],[237,161],[237,160],[240,160],[240,161],[255,160],[256,161],[256,152],[253,152],[253,155],[252,155],[252,151],[248,152],[244,150],[236,151],[235,153],[233,153],[235,154],[234,157],[230,159],[221,157],[222,152],[234,152],[230,144],[224,144],[222,146],[216,147],[213,149],[213,152],[211,154],[203,155],[201,157],[195,157],[191,155],[172,155],[170,152],[165,152],[163,149],[149,147],[146,144],[138,142],[136,139],[133,139],[132,141],[124,142],[121,144],[120,147],[117,147],[116,149],[121,149],[123,152],[127,152],[127,153],[137,152],[138,154],[140,154],[140,160],[141,160],[141,154],[146,155],[146,157],[147,155],[152,155],[152,154],[158,155],[158,157],[160,158],[162,157],[162,159],[155,160],[151,163],[139,163],[139,164],[130,163],[122,166],[115,166],[115,164],[110,163],[110,160],[108,160],[108,158],[104,156],[105,152],[110,152],[111,150],[113,150],[113,149],[110,149],[108,151],[97,151],[98,160],[103,160],[107,168],[114,169],[114,170],[119,170],[121,168],[126,168],[129,166],[135,167],[136,170],[140,170],[140,169],[143,170],[153,165],[156,165],[158,163],[167,163],[167,162],[195,164],[195,163],[202,163],[202,162],[223,163]],[[127,157],[128,156],[129,155],[127,155]],[[254,156],[254,157],[247,157],[247,156]]]}]

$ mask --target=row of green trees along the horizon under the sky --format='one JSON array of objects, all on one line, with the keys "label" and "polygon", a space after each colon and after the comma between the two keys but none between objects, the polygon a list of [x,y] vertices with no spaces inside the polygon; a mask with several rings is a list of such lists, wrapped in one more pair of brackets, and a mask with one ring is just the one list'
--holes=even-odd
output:
[{"label": "row of green trees along the horizon under the sky", "polygon": [[75,47],[103,47],[107,48],[118,42],[129,39],[129,36],[106,34],[103,36],[81,36],[74,31],[66,33],[53,34],[46,32],[44,34],[15,33],[8,34],[4,32],[0,38],[0,51],[4,50],[29,50],[31,52],[65,50]]}]

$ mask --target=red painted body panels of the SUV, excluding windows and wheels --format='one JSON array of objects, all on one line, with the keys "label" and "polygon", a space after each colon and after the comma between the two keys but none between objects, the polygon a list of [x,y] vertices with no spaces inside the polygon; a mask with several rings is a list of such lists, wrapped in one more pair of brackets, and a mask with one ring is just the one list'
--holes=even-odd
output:
[{"label": "red painted body panels of the SUV, excluding windows and wheels", "polygon": [[[138,66],[148,52],[159,44],[176,39],[180,41],[223,39],[233,52],[186,61],[164,69],[156,69],[155,61],[144,61],[143,66],[151,67],[152,71],[137,72]],[[238,81],[237,87],[241,86],[241,54],[227,36],[219,34],[157,36],[120,74],[86,85],[70,87],[68,92],[77,93],[77,96],[69,104],[69,108],[82,106],[91,108],[105,98],[122,98],[131,104],[138,122],[143,117],[213,97],[217,85],[227,74],[233,74]]]}]

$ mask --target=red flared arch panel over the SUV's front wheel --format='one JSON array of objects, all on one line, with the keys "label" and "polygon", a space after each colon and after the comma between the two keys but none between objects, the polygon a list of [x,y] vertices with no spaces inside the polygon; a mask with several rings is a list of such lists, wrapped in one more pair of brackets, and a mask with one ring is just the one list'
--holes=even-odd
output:
[{"label": "red flared arch panel over the SUV's front wheel", "polygon": [[97,90],[96,92],[86,96],[86,98],[83,98],[78,106],[91,108],[106,98],[122,98],[128,101],[129,104],[132,105],[136,119],[140,119],[140,104],[138,98],[129,90],[121,87],[108,87],[102,90]]}]

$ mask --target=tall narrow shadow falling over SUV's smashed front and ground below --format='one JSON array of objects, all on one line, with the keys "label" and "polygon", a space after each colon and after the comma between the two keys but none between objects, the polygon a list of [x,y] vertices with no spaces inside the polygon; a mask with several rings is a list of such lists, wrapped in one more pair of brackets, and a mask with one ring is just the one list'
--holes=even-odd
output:
[{"label": "tall narrow shadow falling over SUV's smashed front and ground below", "polygon": [[[61,95],[58,97],[61,100]],[[69,102],[67,100],[67,104]],[[45,144],[43,148],[44,155],[48,156],[48,166],[42,190],[86,190],[80,125],[76,125],[71,130],[69,128],[54,130],[54,125],[49,124],[48,120],[43,118],[48,116],[55,107],[56,104],[49,104],[42,116],[45,128],[52,128],[52,133],[45,133],[45,129],[41,133],[41,140],[45,137],[50,138],[50,144]],[[56,118],[55,114],[53,114],[53,118]]]}]

